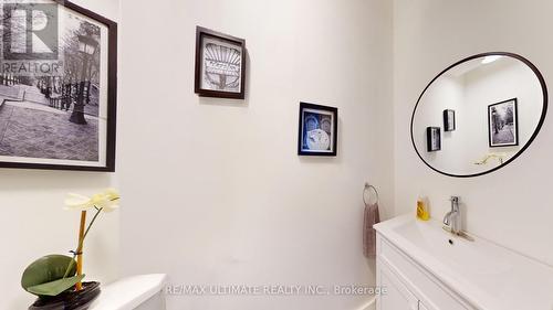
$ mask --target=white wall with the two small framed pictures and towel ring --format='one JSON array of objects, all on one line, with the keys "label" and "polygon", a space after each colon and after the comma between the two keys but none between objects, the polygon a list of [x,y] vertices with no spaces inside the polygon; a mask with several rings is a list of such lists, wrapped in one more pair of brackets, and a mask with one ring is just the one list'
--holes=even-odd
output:
[{"label": "white wall with the two small framed pictures and towel ring", "polygon": [[[124,0],[122,271],[174,285],[373,285],[362,191],[393,207],[392,2]],[[196,25],[246,39],[247,98],[194,94]],[[300,100],[338,156],[298,157]],[[171,296],[169,309],[357,309],[363,296]]]}]

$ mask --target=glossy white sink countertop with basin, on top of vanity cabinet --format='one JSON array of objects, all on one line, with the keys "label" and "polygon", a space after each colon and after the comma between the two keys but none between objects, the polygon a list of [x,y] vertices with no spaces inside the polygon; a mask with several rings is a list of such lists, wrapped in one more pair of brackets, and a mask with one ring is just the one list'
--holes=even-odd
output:
[{"label": "glossy white sink countertop with basin, on top of vanity cabinet", "polygon": [[452,236],[404,215],[375,225],[417,264],[478,309],[553,310],[553,268],[486,239]]}]

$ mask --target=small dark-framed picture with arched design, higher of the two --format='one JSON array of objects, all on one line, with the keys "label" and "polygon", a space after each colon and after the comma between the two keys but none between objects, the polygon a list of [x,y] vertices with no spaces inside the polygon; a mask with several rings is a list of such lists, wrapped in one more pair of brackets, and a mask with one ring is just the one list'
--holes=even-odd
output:
[{"label": "small dark-framed picture with arched design, higher of the two", "polygon": [[195,92],[202,97],[243,99],[246,41],[196,28]]}]

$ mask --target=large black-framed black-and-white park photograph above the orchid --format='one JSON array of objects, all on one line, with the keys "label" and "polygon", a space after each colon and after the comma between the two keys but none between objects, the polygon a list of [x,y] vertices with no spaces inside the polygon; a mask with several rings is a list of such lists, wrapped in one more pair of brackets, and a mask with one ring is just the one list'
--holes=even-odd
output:
[{"label": "large black-framed black-and-white park photograph above the orchid", "polygon": [[114,171],[117,24],[70,1],[2,12],[0,167]]}]

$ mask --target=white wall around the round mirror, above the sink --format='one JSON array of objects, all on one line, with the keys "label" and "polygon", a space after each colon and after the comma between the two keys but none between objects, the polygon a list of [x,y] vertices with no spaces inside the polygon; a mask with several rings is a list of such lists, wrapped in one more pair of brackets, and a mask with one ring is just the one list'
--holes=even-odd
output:
[{"label": "white wall around the round mirror, above the sink", "polygon": [[476,179],[440,175],[418,159],[409,119],[420,92],[442,68],[487,51],[519,53],[553,85],[553,41],[544,0],[396,0],[394,9],[394,101],[396,122],[396,214],[414,212],[419,193],[429,196],[437,220],[460,195],[471,233],[553,265],[551,161],[553,124],[546,119],[534,143],[513,163]]}]

